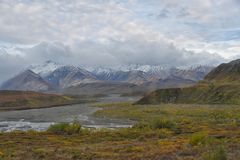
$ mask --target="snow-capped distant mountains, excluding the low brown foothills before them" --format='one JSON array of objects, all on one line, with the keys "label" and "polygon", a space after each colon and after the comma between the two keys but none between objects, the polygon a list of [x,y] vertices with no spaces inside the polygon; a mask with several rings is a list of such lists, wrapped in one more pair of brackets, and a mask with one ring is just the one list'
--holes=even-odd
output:
[{"label": "snow-capped distant mountains, excluding the low brown foothills before them", "polygon": [[20,76],[20,78],[16,76],[17,78],[10,79],[3,86],[5,89],[20,90],[63,89],[89,83],[99,83],[98,86],[108,83],[129,83],[153,86],[153,88],[155,86],[174,87],[192,85],[202,80],[212,69],[213,67],[209,66],[167,68],[139,64],[115,67],[78,67],[46,61],[43,64],[31,65],[28,72],[25,73],[32,75],[30,77],[35,76],[35,79],[30,78],[25,81],[21,78],[24,76]]}]

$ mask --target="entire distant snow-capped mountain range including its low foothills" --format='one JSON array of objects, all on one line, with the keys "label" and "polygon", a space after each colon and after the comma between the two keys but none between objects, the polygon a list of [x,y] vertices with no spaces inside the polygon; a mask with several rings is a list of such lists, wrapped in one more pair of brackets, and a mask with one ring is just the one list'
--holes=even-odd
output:
[{"label": "entire distant snow-capped mountain range including its low foothills", "polygon": [[[85,67],[46,61],[31,65],[7,80],[2,90],[58,91],[66,93],[142,92],[157,88],[189,86],[203,79],[213,67],[165,68],[151,65]],[[107,93],[108,93],[107,92]]]}]

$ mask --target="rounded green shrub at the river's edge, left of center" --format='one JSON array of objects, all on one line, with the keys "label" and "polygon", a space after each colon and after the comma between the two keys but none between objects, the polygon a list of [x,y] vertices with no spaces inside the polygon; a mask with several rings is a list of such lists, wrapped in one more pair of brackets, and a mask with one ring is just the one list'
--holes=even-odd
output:
[{"label": "rounded green shrub at the river's edge, left of center", "polygon": [[58,123],[48,128],[48,132],[55,134],[79,134],[82,131],[82,125],[79,122]]}]

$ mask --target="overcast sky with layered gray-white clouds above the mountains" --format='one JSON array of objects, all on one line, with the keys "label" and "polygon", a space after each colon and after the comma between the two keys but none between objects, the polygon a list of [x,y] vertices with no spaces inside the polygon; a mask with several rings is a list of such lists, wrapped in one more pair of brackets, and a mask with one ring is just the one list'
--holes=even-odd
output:
[{"label": "overcast sky with layered gray-white clouds above the mountains", "polygon": [[216,65],[240,57],[239,0],[0,0],[0,82],[34,63]]}]

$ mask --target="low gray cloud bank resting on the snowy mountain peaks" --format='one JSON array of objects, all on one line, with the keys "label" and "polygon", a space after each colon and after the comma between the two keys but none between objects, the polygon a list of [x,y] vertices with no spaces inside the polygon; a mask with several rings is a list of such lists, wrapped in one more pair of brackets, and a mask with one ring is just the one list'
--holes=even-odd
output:
[{"label": "low gray cloud bank resting on the snowy mountain peaks", "polygon": [[[27,66],[47,60],[74,65],[114,66],[120,64],[149,64],[162,66],[216,65],[224,59],[217,54],[195,53],[177,49],[173,44],[141,39],[127,41],[82,42],[66,46],[58,42],[42,42],[32,47],[17,47],[19,55],[2,54],[5,66]],[[6,52],[6,51],[5,51]],[[6,61],[7,59],[7,61]],[[11,63],[7,64],[8,61]],[[13,65],[16,64],[16,65]],[[23,65],[25,64],[25,65]],[[10,67],[11,68],[11,67]]]}]

